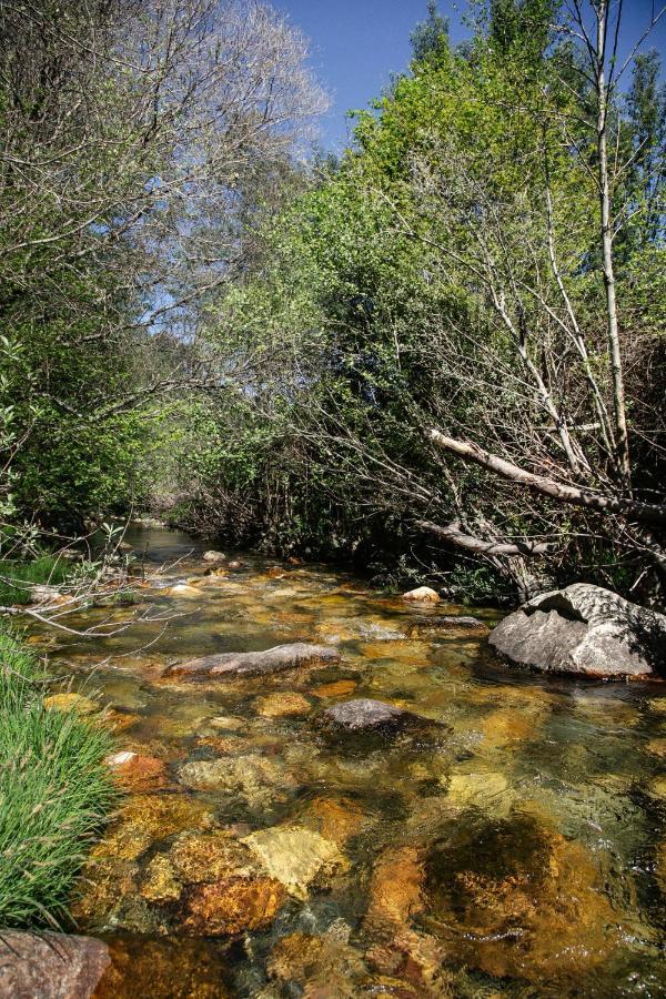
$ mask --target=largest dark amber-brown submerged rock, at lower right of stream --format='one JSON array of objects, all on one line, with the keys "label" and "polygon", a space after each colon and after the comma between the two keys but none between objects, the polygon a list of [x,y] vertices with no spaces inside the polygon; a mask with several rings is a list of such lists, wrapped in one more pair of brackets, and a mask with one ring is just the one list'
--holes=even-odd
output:
[{"label": "largest dark amber-brown submerged rock, at lower right of stream", "polygon": [[584,991],[618,948],[622,914],[594,857],[526,815],[452,827],[425,866],[421,921],[470,969]]}]

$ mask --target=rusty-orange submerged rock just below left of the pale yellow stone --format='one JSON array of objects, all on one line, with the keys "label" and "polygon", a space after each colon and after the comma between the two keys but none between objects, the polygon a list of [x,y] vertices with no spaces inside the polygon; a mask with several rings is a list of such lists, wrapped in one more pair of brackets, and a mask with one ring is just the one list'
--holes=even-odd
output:
[{"label": "rusty-orange submerged rock just below left of the pale yellow stone", "polygon": [[195,885],[186,892],[185,931],[205,937],[226,937],[265,929],[286,898],[275,878],[223,878]]}]

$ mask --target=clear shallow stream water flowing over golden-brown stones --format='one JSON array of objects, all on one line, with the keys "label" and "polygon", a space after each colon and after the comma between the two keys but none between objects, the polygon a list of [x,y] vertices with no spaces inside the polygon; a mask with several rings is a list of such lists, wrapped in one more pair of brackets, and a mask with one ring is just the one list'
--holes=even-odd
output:
[{"label": "clear shallow stream water flowing over golden-brown stones", "polygon": [[[666,995],[658,686],[516,675],[486,628],[443,620],[468,608],[245,555],[205,575],[176,532],[128,539],[151,568],[171,563],[138,598],[182,616],[50,650],[138,754],[117,761],[130,796],[74,901],[80,929],[113,942],[103,995]],[[334,644],[342,660],[162,676],[292,642]],[[437,724],[324,731],[322,712],[352,697]]]}]

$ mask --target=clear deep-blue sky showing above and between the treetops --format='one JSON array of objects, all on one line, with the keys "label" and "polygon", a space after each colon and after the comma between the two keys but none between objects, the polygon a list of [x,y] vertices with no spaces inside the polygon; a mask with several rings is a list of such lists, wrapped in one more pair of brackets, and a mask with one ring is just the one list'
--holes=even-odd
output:
[{"label": "clear deep-blue sky showing above and between the treetops", "polygon": [[[662,3],[654,6],[660,9]],[[333,99],[321,122],[321,142],[340,152],[346,144],[349,109],[365,108],[379,97],[391,74],[406,69],[410,33],[426,13],[426,0],[273,0],[273,7],[311,42],[311,65]],[[451,38],[458,42],[467,31],[462,24],[466,2],[440,0],[440,12],[451,20]],[[653,0],[625,0],[624,33],[637,38],[649,22]],[[666,48],[666,16],[653,44]]]}]

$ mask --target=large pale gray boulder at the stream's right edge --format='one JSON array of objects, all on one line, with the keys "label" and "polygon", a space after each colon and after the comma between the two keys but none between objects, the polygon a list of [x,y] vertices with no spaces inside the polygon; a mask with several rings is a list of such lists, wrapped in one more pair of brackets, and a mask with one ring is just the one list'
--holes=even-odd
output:
[{"label": "large pale gray boulder at the stream's right edge", "polygon": [[527,601],[497,625],[490,643],[503,658],[544,673],[666,675],[666,616],[588,583]]}]

